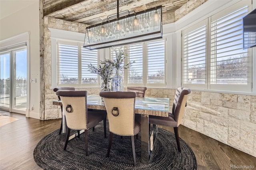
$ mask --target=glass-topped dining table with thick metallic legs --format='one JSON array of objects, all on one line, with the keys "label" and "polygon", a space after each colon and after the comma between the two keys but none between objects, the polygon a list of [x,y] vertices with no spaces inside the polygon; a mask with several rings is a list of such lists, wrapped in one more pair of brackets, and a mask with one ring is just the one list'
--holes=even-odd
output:
[{"label": "glass-topped dining table with thick metallic legs", "polygon": [[[62,105],[60,100],[52,101],[53,105]],[[104,101],[99,95],[87,96],[87,108],[89,111],[106,110]],[[157,136],[157,125],[153,125],[150,130],[148,118],[149,115],[168,117],[169,113],[169,98],[158,97],[136,97],[135,99],[135,113],[141,115],[141,162],[148,164],[154,148],[154,142]],[[65,113],[62,112],[62,132],[66,132],[66,121],[63,119]],[[149,133],[151,131],[151,133]],[[81,133],[81,132],[80,132]],[[70,136],[69,139],[74,138],[76,134]]]}]

